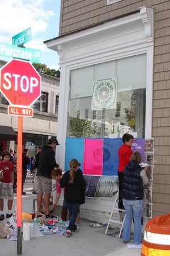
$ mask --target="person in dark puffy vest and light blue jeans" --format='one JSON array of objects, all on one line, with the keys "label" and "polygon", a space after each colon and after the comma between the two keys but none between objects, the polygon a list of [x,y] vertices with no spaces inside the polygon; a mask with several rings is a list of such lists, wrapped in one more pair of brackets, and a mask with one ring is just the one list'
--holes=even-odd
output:
[{"label": "person in dark puffy vest and light blue jeans", "polygon": [[146,172],[148,166],[143,168],[141,163],[141,155],[139,152],[134,152],[131,155],[129,164],[124,170],[124,182],[122,198],[126,210],[125,224],[122,240],[128,242],[130,240],[131,221],[134,219],[134,234],[133,240],[135,245],[139,245],[142,241],[142,208],[143,208],[143,184],[148,184]]}]

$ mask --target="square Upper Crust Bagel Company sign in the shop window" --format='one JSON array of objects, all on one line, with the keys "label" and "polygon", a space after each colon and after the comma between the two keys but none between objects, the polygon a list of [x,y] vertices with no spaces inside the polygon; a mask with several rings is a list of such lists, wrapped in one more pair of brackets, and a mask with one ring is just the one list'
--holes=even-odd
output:
[{"label": "square Upper Crust Bagel Company sign in the shop window", "polygon": [[91,110],[116,109],[117,79],[97,80],[92,90]]}]

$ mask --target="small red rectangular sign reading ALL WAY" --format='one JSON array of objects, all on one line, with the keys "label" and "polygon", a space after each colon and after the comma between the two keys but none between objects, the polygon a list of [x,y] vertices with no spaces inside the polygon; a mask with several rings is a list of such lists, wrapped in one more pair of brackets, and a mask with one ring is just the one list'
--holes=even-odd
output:
[{"label": "small red rectangular sign reading ALL WAY", "polygon": [[18,115],[20,117],[33,117],[33,109],[22,106],[8,106],[8,115]]}]

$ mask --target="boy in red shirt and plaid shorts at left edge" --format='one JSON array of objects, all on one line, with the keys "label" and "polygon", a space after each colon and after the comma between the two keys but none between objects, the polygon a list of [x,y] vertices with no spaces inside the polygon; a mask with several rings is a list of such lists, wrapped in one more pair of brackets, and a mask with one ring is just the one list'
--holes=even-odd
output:
[{"label": "boy in red shirt and plaid shorts at left edge", "polygon": [[14,184],[14,166],[10,162],[10,152],[7,150],[2,152],[2,161],[0,162],[0,221],[2,221],[4,216],[3,211],[3,201],[8,200],[8,211],[6,218],[12,216],[12,203],[14,198],[13,184]]}]

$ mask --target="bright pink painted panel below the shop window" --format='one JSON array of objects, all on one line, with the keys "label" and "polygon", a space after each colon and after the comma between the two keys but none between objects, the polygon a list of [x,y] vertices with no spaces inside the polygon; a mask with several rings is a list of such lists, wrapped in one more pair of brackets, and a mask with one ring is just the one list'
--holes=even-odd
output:
[{"label": "bright pink painted panel below the shop window", "polygon": [[103,139],[84,139],[83,174],[102,175]]}]

